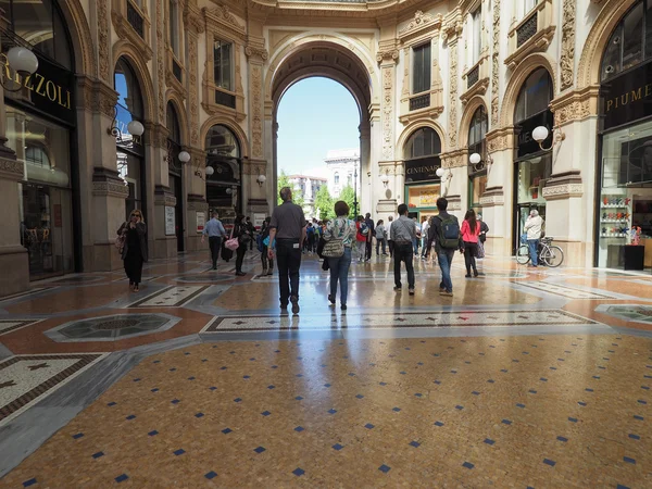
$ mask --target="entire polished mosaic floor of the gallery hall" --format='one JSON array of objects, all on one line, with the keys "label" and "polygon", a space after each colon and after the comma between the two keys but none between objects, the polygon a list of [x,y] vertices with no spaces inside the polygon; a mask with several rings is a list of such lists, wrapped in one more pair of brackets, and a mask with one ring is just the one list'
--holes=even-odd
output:
[{"label": "entire polished mosaic floor of the gallery hall", "polygon": [[[652,487],[652,276],[154,261],[0,299],[0,488]],[[339,304],[338,304],[339,305]]]}]

